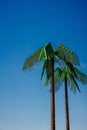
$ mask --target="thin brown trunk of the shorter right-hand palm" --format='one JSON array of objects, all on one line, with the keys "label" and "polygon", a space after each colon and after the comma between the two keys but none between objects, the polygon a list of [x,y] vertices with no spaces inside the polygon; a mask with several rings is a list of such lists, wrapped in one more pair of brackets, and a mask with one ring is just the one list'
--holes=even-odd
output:
[{"label": "thin brown trunk of the shorter right-hand palm", "polygon": [[69,126],[69,107],[68,107],[67,77],[65,77],[65,109],[66,109],[66,130],[70,130],[70,126]]}]

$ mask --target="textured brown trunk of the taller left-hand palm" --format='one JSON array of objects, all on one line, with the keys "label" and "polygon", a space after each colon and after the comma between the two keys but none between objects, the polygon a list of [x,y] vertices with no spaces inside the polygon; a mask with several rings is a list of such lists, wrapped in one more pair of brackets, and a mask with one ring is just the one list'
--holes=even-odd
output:
[{"label": "textured brown trunk of the taller left-hand palm", "polygon": [[51,62],[51,130],[55,130],[54,59]]}]

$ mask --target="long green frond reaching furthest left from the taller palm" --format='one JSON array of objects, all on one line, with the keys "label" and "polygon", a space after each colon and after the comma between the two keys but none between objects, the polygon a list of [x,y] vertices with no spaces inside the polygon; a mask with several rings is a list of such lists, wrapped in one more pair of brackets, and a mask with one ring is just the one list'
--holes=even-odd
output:
[{"label": "long green frond reaching furthest left from the taller palm", "polygon": [[35,51],[32,55],[30,55],[24,63],[23,70],[27,70],[28,68],[32,67],[35,63],[37,63],[39,60],[39,55],[41,53],[41,50],[43,47],[39,48],[37,51]]}]

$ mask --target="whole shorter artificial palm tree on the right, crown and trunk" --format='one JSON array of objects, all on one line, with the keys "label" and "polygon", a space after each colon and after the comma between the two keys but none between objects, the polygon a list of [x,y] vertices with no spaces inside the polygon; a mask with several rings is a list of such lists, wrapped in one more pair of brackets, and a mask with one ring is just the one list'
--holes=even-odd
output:
[{"label": "whole shorter artificial palm tree on the right, crown and trunk", "polygon": [[59,68],[55,69],[54,72],[54,79],[55,79],[55,91],[57,91],[62,83],[64,82],[65,87],[65,110],[66,110],[66,130],[70,130],[70,123],[69,123],[69,105],[68,105],[68,88],[69,86],[71,90],[75,93],[76,88],[79,92],[79,86],[77,81],[81,82],[82,84],[87,84],[87,75],[82,73],[76,67],[74,67],[71,63],[67,63],[64,66],[63,70]]}]

